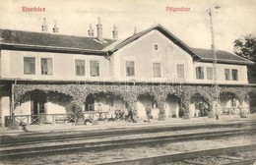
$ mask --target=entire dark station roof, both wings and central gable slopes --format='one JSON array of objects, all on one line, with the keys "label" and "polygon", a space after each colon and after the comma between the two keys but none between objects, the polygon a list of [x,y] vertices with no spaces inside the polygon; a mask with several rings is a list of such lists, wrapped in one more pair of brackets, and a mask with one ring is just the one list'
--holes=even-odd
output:
[{"label": "entire dark station roof, both wings and central gable slopes", "polygon": [[[111,55],[115,51],[146,35],[152,30],[159,30],[173,43],[177,44],[180,48],[190,54],[195,61],[213,62],[214,57],[211,49],[191,48],[161,25],[156,25],[142,30],[124,40],[104,38],[104,42],[98,42],[96,37],[0,29],[0,45],[8,45],[8,48],[10,48],[11,45],[14,49],[17,49],[17,47],[23,47],[25,50],[33,49],[36,51],[44,51],[46,49],[63,53],[91,53],[95,55]],[[217,50],[216,52],[219,63],[240,65],[254,64],[245,58],[223,50]]]}]

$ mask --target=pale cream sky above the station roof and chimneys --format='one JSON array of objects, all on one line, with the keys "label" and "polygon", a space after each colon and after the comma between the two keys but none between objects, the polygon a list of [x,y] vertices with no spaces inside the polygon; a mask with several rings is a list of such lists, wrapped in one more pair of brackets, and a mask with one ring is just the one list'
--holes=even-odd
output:
[{"label": "pale cream sky above the station roof and chimneys", "polygon": [[[45,12],[24,12],[23,7]],[[189,11],[166,10],[182,7]],[[40,32],[46,18],[50,33],[56,20],[60,34],[88,36],[90,24],[96,35],[100,18],[104,38],[112,38],[114,25],[118,39],[124,39],[134,27],[138,32],[160,24],[191,47],[211,48],[208,9],[213,9],[217,49],[232,52],[234,39],[256,35],[256,0],[0,0],[0,28]]]}]

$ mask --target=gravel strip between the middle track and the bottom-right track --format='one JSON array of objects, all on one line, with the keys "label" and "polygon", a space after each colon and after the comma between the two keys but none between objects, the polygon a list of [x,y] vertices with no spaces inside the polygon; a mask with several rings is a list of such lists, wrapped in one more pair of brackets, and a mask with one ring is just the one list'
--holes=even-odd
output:
[{"label": "gravel strip between the middle track and the bottom-right track", "polygon": [[[169,144],[157,144],[138,148],[121,148],[101,152],[76,152],[70,154],[56,154],[49,156],[37,156],[33,158],[4,160],[4,165],[41,165],[41,164],[58,164],[58,165],[84,165],[96,164],[100,162],[111,162],[126,159],[135,159],[143,157],[152,157],[182,153],[196,150],[214,149],[221,147],[231,147],[237,145],[256,143],[255,136],[241,136],[236,138],[219,138],[219,139],[198,139],[194,141],[176,142]],[[241,154],[242,155],[242,154]],[[255,156],[252,155],[252,156]],[[220,158],[221,159],[221,158]],[[209,158],[209,160],[211,160]],[[213,162],[217,161],[213,158]],[[178,165],[178,164],[176,164]]]}]

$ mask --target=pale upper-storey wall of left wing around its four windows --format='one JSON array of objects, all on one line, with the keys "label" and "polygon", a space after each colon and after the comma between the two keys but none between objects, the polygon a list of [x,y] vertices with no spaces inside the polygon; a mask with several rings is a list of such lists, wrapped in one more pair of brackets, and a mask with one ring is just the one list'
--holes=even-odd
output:
[{"label": "pale upper-storey wall of left wing around its four windows", "polygon": [[[24,74],[24,57],[35,57],[35,75]],[[41,75],[40,58],[52,58],[53,74]],[[75,75],[75,60],[86,61],[86,76]],[[99,77],[91,77],[90,60],[99,61]],[[2,78],[6,79],[29,79],[29,80],[55,80],[55,81],[102,81],[109,78],[109,61],[103,56],[92,55],[74,55],[62,53],[48,52],[32,52],[32,51],[1,51]]]}]

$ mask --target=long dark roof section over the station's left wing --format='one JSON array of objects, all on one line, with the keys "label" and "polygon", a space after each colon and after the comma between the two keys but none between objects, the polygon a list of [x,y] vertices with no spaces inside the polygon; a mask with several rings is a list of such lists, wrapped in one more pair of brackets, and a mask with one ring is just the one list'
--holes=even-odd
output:
[{"label": "long dark roof section over the station's left wing", "polygon": [[102,50],[115,40],[104,39],[103,43],[96,37],[82,37],[45,32],[0,29],[0,43],[33,46],[64,47],[87,50]]}]

